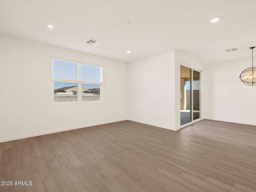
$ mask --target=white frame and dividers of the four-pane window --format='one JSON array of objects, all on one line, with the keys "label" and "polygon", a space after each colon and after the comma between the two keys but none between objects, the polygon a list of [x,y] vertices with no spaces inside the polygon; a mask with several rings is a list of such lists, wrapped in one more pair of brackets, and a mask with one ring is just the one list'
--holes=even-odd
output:
[{"label": "white frame and dividers of the four-pane window", "polygon": [[[64,104],[64,103],[88,103],[88,102],[102,102],[102,84],[103,84],[103,67],[97,64],[89,64],[89,63],[84,63],[84,62],[78,62],[74,60],[67,60],[67,59],[60,59],[60,58],[51,58],[52,60],[52,89],[54,92],[54,82],[66,82],[66,83],[77,83],[78,85],[78,100],[77,101],[72,101],[72,102],[54,102],[54,94],[52,102],[54,104]],[[77,63],[78,64],[78,80],[67,80],[67,79],[58,79],[58,78],[53,78],[53,60],[60,60],[64,62],[72,62],[72,63]],[[101,82],[90,82],[90,81],[82,81],[82,65],[88,65],[88,66],[94,66],[94,67],[100,67],[100,75],[101,75]],[[96,101],[82,101],[82,84],[96,84],[100,85],[100,100]]]}]

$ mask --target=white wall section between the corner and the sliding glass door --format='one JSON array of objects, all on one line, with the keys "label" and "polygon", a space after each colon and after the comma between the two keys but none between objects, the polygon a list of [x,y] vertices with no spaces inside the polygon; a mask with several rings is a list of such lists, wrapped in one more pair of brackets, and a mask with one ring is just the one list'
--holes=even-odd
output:
[{"label": "white wall section between the corner and the sliding glass door", "polygon": [[127,82],[128,118],[175,130],[175,51],[129,63]]}]

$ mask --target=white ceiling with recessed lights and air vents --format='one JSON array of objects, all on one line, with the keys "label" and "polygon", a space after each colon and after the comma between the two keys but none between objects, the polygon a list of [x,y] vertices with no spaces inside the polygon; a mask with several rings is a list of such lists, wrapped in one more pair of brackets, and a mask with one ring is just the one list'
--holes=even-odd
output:
[{"label": "white ceiling with recessed lights and air vents", "polygon": [[[216,16],[221,20],[210,23]],[[48,23],[56,28],[46,28]],[[256,1],[1,0],[0,34],[122,62],[179,50],[210,64],[251,56],[249,48],[256,46]],[[89,38],[101,43],[85,44]],[[225,52],[231,48],[238,51]]]}]

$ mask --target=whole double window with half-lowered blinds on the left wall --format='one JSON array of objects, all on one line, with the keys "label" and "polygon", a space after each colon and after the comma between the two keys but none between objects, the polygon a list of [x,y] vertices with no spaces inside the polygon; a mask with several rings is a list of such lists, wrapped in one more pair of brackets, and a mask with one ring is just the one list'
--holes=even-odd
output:
[{"label": "whole double window with half-lowered blinds on the left wall", "polygon": [[52,60],[54,102],[101,101],[102,67]]}]

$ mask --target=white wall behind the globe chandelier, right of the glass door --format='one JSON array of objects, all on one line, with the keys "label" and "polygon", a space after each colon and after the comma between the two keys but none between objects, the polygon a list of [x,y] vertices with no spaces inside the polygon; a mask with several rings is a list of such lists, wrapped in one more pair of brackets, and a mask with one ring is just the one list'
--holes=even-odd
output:
[{"label": "white wall behind the globe chandelier, right of the glass door", "polygon": [[241,82],[251,59],[205,65],[204,118],[256,125],[256,86]]}]

